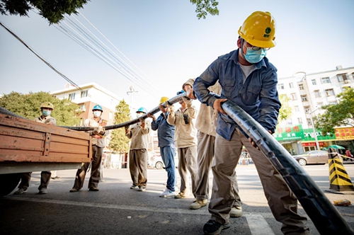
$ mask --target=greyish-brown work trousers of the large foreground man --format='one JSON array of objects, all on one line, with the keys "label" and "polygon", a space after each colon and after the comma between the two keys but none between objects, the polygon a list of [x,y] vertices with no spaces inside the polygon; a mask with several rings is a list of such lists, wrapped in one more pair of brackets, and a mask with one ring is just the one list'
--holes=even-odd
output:
[{"label": "greyish-brown work trousers of the large foreground man", "polygon": [[212,198],[209,212],[212,219],[221,224],[229,222],[229,211],[236,195],[231,194],[230,187],[236,180],[236,166],[239,161],[242,146],[247,151],[256,166],[263,185],[265,197],[273,216],[282,223],[283,234],[309,234],[307,218],[297,214],[297,198],[290,191],[285,180],[276,171],[267,157],[252,146],[244,134],[236,129],[230,141],[217,134],[215,141],[215,159],[212,164],[214,175]]}]

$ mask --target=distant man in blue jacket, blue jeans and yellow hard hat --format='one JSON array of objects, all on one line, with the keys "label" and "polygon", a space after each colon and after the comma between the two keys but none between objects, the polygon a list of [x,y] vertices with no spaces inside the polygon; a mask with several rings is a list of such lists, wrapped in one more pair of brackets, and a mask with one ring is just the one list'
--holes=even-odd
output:
[{"label": "distant man in blue jacket, blue jeans and yellow hard hat", "polygon": [[147,113],[148,117],[152,118],[152,130],[157,130],[157,137],[159,139],[159,148],[162,161],[165,164],[165,170],[167,172],[167,185],[160,197],[170,197],[176,195],[176,167],[175,167],[175,150],[174,150],[174,136],[175,126],[170,125],[167,122],[167,117],[170,114],[170,108],[164,108],[161,104],[168,101],[169,98],[162,97],[159,104],[161,114],[159,117]]}]

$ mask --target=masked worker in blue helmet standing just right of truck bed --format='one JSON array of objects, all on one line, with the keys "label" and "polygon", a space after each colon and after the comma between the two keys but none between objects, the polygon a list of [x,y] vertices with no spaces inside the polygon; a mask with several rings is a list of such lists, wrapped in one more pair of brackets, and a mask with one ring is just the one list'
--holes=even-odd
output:
[{"label": "masked worker in blue helmet standing just right of truck bed", "polygon": [[[105,148],[105,137],[109,134],[103,127],[107,125],[107,121],[101,117],[103,108],[101,105],[95,105],[92,109],[93,117],[86,119],[85,127],[95,127],[89,131],[92,137],[92,161],[91,161],[91,176],[89,180],[89,190],[99,191],[98,182],[101,177],[101,161],[103,149]],[[70,193],[79,191],[84,186],[86,172],[89,169],[90,163],[86,162],[81,166],[81,169],[76,171],[75,183]]]}]

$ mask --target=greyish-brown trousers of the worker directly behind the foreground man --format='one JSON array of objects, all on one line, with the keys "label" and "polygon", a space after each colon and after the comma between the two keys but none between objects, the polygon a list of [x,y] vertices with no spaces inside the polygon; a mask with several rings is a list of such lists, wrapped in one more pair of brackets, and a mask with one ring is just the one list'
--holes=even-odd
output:
[{"label": "greyish-brown trousers of the worker directly behind the foreground man", "polygon": [[[198,177],[197,177],[197,189],[196,199],[204,200],[209,197],[209,172],[212,167],[212,160],[215,153],[215,137],[210,134],[199,132],[198,137]],[[237,180],[234,181],[235,202],[233,206],[241,206],[241,200],[239,197],[239,185]]]}]

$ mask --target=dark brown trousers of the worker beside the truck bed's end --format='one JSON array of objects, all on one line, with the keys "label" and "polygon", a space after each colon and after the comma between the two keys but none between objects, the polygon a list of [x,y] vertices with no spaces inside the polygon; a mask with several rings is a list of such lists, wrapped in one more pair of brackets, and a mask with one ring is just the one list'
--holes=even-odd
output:
[{"label": "dark brown trousers of the worker beside the truck bed's end", "polygon": [[[88,188],[97,188],[101,175],[101,161],[103,154],[103,147],[97,147],[92,145],[92,161],[91,161],[91,176],[89,180]],[[82,164],[81,169],[76,171],[75,183],[73,188],[81,189],[84,186],[86,171],[89,168],[90,163],[86,162]]]}]

